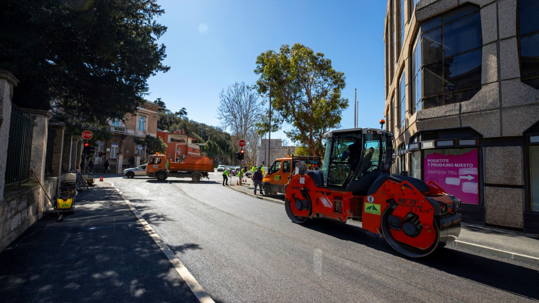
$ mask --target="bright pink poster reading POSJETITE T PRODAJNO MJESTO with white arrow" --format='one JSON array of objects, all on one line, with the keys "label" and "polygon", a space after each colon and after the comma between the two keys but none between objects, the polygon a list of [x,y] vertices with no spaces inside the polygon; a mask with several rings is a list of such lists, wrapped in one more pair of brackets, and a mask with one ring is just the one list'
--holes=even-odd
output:
[{"label": "bright pink poster reading POSJETITE T PRODAJNO MJESTO with white arrow", "polygon": [[430,154],[424,159],[425,182],[434,181],[462,203],[479,204],[478,152],[462,155]]}]

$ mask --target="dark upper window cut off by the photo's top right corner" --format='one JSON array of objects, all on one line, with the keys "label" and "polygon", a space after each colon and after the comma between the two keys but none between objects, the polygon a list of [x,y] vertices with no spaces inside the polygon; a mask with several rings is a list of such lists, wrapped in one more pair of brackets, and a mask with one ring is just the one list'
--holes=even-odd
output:
[{"label": "dark upper window cut off by the photo's top right corner", "polygon": [[539,1],[519,0],[520,78],[539,89]]}]

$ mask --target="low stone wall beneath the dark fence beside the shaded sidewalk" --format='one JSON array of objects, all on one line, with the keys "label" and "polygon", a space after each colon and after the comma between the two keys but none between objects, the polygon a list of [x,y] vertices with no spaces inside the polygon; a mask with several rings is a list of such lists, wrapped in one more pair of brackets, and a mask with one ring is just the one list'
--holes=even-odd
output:
[{"label": "low stone wall beneath the dark fence beside the shaded sidewalk", "polygon": [[[58,182],[62,177],[46,178],[43,186],[51,198],[56,195]],[[52,209],[52,205],[37,183],[11,185],[4,190],[4,200],[0,201],[0,252],[8,247],[30,225]]]}]

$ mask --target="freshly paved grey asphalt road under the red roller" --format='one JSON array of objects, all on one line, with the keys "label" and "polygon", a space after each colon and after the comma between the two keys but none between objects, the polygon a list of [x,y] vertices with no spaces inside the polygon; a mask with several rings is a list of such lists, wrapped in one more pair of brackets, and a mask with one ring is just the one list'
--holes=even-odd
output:
[{"label": "freshly paved grey asphalt road under the red roller", "polygon": [[[210,180],[109,177],[216,302],[526,302],[539,266],[446,247],[425,259]],[[234,183],[236,179],[234,179]]]}]

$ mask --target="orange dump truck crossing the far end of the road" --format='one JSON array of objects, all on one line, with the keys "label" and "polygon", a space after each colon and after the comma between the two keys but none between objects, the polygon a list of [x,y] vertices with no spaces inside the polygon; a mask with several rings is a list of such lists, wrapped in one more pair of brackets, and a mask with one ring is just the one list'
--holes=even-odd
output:
[{"label": "orange dump truck crossing the far end of the road", "polygon": [[176,177],[191,178],[192,181],[198,182],[203,177],[209,179],[210,171],[213,171],[213,159],[206,156],[181,157],[179,162],[172,162],[170,155],[156,154],[150,156],[146,166],[146,176],[158,181]]}]

